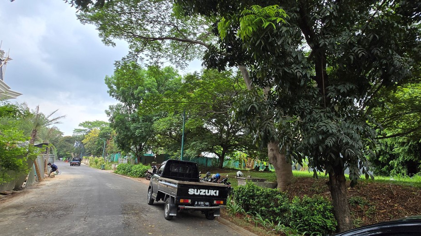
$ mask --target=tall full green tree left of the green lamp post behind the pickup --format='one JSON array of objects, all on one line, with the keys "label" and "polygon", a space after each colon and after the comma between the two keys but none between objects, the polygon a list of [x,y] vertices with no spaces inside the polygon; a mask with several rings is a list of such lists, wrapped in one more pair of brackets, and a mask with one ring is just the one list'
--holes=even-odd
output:
[{"label": "tall full green tree left of the green lamp post behind the pickup", "polygon": [[116,132],[114,142],[126,153],[133,153],[139,163],[149,148],[149,140],[155,135],[152,129],[155,114],[141,114],[139,109],[151,94],[169,90],[173,78],[181,82],[181,77],[172,68],[144,70],[135,63],[122,63],[113,76],[105,78],[109,95],[120,101],[106,111],[110,126]]}]

